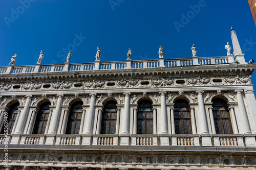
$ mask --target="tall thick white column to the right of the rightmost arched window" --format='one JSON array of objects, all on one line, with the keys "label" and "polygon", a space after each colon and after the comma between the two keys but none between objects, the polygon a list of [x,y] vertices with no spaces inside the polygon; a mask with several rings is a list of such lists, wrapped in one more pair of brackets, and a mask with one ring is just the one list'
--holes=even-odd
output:
[{"label": "tall thick white column to the right of the rightmost arched window", "polygon": [[234,91],[237,92],[238,109],[240,113],[240,119],[241,119],[244,134],[251,134],[250,123],[248,120],[248,116],[247,116],[247,112],[245,109],[244,100],[242,96],[243,90],[234,90]]}]

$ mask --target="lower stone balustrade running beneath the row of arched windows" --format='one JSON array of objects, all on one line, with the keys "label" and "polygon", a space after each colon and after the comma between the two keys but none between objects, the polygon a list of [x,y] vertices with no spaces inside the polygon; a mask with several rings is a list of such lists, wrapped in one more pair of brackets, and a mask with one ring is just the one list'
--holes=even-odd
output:
[{"label": "lower stone balustrade running beneath the row of arched windows", "polygon": [[0,145],[138,145],[178,147],[256,147],[254,134],[249,135],[0,135]]}]

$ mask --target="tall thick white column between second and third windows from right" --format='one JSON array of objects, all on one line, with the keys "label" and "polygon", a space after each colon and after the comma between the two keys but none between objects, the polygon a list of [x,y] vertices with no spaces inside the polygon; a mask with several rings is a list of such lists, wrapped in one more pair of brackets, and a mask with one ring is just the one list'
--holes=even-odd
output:
[{"label": "tall thick white column between second and third windows from right", "polygon": [[166,92],[159,92],[161,99],[161,134],[168,134],[167,113],[166,113]]}]

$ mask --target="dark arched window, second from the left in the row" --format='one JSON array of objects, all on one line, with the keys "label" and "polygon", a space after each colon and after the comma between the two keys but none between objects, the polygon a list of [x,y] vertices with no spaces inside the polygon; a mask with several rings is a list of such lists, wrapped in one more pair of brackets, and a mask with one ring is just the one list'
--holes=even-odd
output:
[{"label": "dark arched window, second from the left in the row", "polygon": [[50,102],[43,103],[36,116],[35,127],[33,134],[44,134],[46,130],[46,124],[50,113]]}]

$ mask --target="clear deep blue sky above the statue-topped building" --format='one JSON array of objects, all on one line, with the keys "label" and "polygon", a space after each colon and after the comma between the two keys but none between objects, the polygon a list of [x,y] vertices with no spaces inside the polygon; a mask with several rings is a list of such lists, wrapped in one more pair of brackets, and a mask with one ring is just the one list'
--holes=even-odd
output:
[{"label": "clear deep blue sky above the statue-topped building", "polygon": [[231,26],[245,60],[256,61],[247,0],[2,0],[0,10],[0,66],[14,54],[15,66],[34,65],[40,50],[42,64],[63,64],[69,50],[71,63],[94,62],[97,46],[101,61],[125,61],[129,47],[132,60],[158,59],[160,45],[165,59],[191,58],[193,44],[199,57],[226,56]]}]

